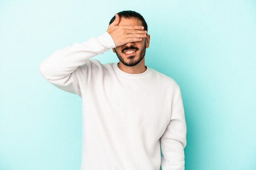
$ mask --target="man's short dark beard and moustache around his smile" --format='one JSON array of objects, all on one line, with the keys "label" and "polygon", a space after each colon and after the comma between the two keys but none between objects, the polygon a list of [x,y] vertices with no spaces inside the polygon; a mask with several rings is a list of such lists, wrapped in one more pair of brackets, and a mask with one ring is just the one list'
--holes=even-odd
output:
[{"label": "man's short dark beard and moustache around his smile", "polygon": [[[124,52],[124,50],[139,50],[139,48],[134,47],[134,46],[130,46],[130,47],[124,48],[121,52]],[[139,53],[139,58],[138,59],[135,59],[136,56],[132,55],[132,56],[128,57],[129,61],[126,62],[124,60],[124,58],[121,56],[121,54],[117,53],[117,51],[116,51],[117,57],[121,61],[121,63],[123,63],[124,65],[129,66],[129,67],[137,65],[144,58],[145,53],[146,53],[146,43],[145,43],[144,48],[141,49],[141,52]]]}]

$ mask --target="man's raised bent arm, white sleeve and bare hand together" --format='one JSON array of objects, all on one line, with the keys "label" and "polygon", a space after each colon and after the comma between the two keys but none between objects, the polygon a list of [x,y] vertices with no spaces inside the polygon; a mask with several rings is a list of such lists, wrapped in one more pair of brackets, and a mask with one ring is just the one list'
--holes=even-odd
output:
[{"label": "man's raised bent arm, white sleeve and bare hand together", "polygon": [[[79,66],[83,65],[79,71],[85,75],[88,85],[90,83],[90,63],[87,61],[90,58],[97,54],[103,54],[116,46],[141,41],[141,38],[145,37],[146,32],[143,30],[143,26],[118,26],[119,21],[119,16],[116,14],[115,21],[109,25],[107,32],[103,35],[54,52],[51,57],[40,64],[40,72],[43,77],[58,88],[81,96],[76,74]],[[83,83],[83,85],[85,84]]]}]

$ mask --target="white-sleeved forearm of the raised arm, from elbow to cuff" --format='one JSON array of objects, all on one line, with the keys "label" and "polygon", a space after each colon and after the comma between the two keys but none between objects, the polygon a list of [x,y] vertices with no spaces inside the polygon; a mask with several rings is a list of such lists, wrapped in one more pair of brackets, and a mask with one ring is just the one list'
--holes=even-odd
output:
[{"label": "white-sleeved forearm of the raised arm, from elbow to cuff", "polygon": [[51,57],[45,59],[40,64],[40,72],[43,77],[53,83],[53,81],[63,79],[65,82],[70,74],[80,65],[84,65],[90,58],[103,54],[115,43],[108,33],[104,33],[97,38],[90,38],[81,44],[74,44],[62,50],[57,50]]}]

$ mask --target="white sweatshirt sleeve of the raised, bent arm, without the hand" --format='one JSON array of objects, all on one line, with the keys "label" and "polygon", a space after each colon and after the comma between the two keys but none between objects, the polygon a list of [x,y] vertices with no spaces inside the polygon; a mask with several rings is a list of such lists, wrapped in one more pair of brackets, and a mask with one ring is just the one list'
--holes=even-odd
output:
[{"label": "white sweatshirt sleeve of the raised, bent arm, without the hand", "polygon": [[[115,48],[115,42],[105,32],[97,38],[90,38],[81,44],[75,43],[64,49],[57,50],[40,64],[43,77],[56,87],[81,96],[77,72],[83,74],[83,88],[90,84],[90,62],[88,60]],[[79,68],[79,66],[83,66]]]}]

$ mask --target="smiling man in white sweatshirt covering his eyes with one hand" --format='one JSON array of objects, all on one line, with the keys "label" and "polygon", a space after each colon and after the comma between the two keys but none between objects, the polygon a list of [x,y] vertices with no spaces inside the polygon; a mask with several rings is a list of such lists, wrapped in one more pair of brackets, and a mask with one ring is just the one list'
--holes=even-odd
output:
[{"label": "smiling man in white sweatshirt covering his eyes with one hand", "polygon": [[[58,50],[41,63],[47,81],[82,98],[81,170],[184,170],[180,88],[145,66],[149,41],[144,18],[122,11],[103,35]],[[91,59],[111,48],[119,63]]]}]

